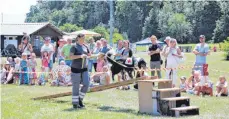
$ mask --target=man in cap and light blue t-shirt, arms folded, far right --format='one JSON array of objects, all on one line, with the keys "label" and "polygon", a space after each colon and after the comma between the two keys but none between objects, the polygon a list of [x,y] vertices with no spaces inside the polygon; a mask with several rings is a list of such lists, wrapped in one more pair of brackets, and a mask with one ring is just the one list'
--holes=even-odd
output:
[{"label": "man in cap and light blue t-shirt, arms folded, far right", "polygon": [[200,35],[200,43],[196,45],[193,53],[196,55],[194,70],[200,70],[203,75],[203,65],[206,64],[206,56],[210,53],[208,44],[205,43],[205,36]]}]

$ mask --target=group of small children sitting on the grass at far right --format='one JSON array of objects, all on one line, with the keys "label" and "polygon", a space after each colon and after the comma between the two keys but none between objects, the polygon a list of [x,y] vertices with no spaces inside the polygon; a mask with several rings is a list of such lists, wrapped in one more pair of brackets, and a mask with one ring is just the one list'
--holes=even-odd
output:
[{"label": "group of small children sitting on the grass at far right", "polygon": [[[182,76],[180,78],[180,88],[182,92],[187,92],[189,94],[195,94],[199,96],[200,94],[213,96],[213,83],[210,81],[208,75],[201,76],[200,71],[192,71],[190,78]],[[216,83],[216,93],[215,96],[228,96],[228,85],[225,76],[220,76],[218,82]]]}]

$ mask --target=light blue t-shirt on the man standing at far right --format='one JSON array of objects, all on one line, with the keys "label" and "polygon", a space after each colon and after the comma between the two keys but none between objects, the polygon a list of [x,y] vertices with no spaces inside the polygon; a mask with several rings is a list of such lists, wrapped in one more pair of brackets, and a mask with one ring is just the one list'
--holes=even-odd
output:
[{"label": "light blue t-shirt on the man standing at far right", "polygon": [[[203,46],[199,43],[196,45],[195,50],[199,53],[208,53],[209,52],[209,46],[207,44],[204,44]],[[200,56],[196,55],[196,63],[197,64],[206,64],[206,56]]]}]

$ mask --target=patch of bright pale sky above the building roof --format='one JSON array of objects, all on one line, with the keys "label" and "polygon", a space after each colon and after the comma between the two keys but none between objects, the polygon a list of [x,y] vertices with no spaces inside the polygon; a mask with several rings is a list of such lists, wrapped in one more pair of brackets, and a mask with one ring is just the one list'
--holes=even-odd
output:
[{"label": "patch of bright pale sky above the building roof", "polygon": [[2,23],[23,23],[26,13],[31,5],[37,0],[0,0],[0,22]]}]

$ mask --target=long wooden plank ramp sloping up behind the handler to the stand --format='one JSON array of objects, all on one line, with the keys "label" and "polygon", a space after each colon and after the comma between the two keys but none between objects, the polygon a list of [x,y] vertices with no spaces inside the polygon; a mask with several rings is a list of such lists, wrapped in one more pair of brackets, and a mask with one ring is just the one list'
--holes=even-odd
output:
[{"label": "long wooden plank ramp sloping up behind the handler to the stand", "polygon": [[[116,82],[116,83],[112,83],[112,84],[108,84],[108,85],[96,86],[96,87],[90,88],[88,92],[89,93],[90,92],[97,92],[97,91],[103,91],[106,89],[116,88],[119,86],[125,86],[125,85],[132,84],[135,81],[142,80],[142,79],[143,78],[135,78],[135,79],[126,80],[126,81],[122,81],[122,82]],[[33,100],[51,99],[51,98],[58,98],[58,97],[64,97],[64,96],[70,96],[70,95],[72,95],[72,92],[64,92],[64,93],[58,93],[58,94],[53,94],[53,95],[48,95],[48,96],[36,97],[36,98],[32,98],[32,99]]]}]

